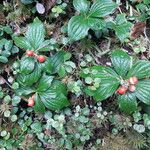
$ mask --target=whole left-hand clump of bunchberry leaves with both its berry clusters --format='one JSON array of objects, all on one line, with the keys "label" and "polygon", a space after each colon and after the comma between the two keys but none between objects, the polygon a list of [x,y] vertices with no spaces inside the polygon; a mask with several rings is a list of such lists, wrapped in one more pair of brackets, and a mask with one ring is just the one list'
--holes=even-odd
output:
[{"label": "whole left-hand clump of bunchberry leaves with both its berry clusters", "polygon": [[44,25],[36,18],[28,26],[25,37],[14,37],[16,45],[26,50],[19,61],[16,79],[19,88],[15,91],[19,96],[25,96],[28,106],[34,107],[36,112],[45,112],[45,107],[59,110],[69,105],[66,86],[55,79],[55,74],[62,71],[71,55],[64,51],[52,57],[39,55],[40,51],[49,50],[50,40],[44,40],[44,36]]}]

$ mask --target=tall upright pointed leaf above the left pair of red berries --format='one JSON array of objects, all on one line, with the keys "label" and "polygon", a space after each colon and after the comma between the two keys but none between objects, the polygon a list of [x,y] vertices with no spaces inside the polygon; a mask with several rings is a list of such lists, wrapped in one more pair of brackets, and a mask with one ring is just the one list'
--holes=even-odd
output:
[{"label": "tall upright pointed leaf above the left pair of red berries", "polygon": [[43,23],[35,18],[33,23],[28,26],[26,38],[29,40],[34,50],[37,50],[43,43],[45,37],[45,28]]}]

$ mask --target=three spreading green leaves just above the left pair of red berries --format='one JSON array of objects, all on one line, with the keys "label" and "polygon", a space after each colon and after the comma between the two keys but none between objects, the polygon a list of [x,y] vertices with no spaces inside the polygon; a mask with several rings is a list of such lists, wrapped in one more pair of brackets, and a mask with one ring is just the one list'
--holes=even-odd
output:
[{"label": "three spreading green leaves just above the left pair of red berries", "polygon": [[35,18],[33,23],[28,25],[25,36],[14,37],[15,44],[23,50],[32,51],[35,57],[39,52],[50,50],[50,40],[45,40],[44,24]]}]

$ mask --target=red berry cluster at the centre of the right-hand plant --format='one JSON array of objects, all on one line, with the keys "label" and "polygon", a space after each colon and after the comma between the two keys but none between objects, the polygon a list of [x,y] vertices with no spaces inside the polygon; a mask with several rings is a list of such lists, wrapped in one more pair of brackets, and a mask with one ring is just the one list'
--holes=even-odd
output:
[{"label": "red berry cluster at the centre of the right-hand plant", "polygon": [[127,80],[127,85],[125,86],[125,85],[121,85],[120,87],[119,87],[119,89],[117,90],[117,93],[118,94],[121,94],[121,95],[123,95],[123,94],[125,94],[128,90],[130,91],[130,92],[135,92],[135,90],[136,90],[136,84],[138,83],[138,78],[137,77],[131,77],[131,78],[129,78],[129,80]]}]

